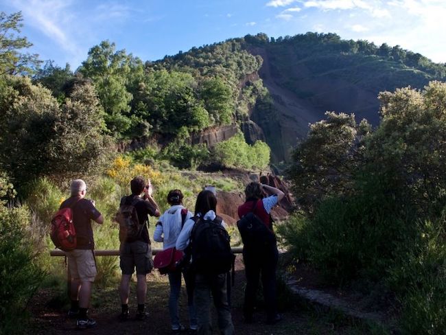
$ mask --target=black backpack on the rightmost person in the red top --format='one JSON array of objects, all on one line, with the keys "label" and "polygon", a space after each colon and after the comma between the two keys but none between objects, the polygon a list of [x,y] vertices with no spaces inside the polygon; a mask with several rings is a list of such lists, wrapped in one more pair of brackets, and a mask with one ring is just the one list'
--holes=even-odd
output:
[{"label": "black backpack on the rightmost person in the red top", "polygon": [[276,245],[276,235],[266,227],[261,218],[255,215],[255,207],[257,207],[257,201],[254,202],[253,209],[237,221],[237,228],[242,236],[244,246],[249,250],[261,253]]}]

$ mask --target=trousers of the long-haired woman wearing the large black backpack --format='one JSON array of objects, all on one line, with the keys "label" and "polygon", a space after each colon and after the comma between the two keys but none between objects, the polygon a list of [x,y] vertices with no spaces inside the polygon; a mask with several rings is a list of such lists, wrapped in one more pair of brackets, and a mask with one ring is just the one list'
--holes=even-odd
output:
[{"label": "trousers of the long-haired woman wearing the large black backpack", "polygon": [[222,275],[196,274],[193,301],[197,308],[198,335],[212,334],[211,295],[218,313],[218,327],[223,335],[233,335],[234,325],[226,290],[226,273]]}]

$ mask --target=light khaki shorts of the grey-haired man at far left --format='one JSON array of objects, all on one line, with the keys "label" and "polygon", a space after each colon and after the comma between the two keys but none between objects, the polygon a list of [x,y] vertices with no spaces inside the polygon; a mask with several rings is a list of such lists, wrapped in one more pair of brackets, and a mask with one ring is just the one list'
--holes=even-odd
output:
[{"label": "light khaki shorts of the grey-haired man at far left", "polygon": [[71,278],[80,281],[91,281],[93,283],[97,275],[93,250],[75,249],[68,251],[66,254]]}]

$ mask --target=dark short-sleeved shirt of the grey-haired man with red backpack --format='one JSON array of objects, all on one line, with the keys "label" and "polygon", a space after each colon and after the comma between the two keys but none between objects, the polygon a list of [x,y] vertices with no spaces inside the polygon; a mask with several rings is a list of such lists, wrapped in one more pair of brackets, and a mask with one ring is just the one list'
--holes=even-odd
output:
[{"label": "dark short-sleeved shirt of the grey-haired man with red backpack", "polygon": [[77,237],[76,249],[95,249],[91,220],[99,218],[101,213],[93,206],[90,200],[85,198],[78,199],[78,196],[68,198],[60,205],[60,209],[71,207],[73,211],[73,224]]}]

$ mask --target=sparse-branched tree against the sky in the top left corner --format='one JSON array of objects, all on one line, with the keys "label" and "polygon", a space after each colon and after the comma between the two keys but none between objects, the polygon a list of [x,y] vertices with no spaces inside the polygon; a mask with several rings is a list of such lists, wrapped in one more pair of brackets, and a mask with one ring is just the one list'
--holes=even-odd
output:
[{"label": "sparse-branched tree against the sky in the top left corner", "polygon": [[21,49],[32,46],[26,37],[20,34],[22,13],[10,15],[0,12],[0,76],[5,74],[30,74],[36,71],[40,60],[37,54],[23,54]]}]

